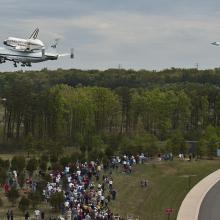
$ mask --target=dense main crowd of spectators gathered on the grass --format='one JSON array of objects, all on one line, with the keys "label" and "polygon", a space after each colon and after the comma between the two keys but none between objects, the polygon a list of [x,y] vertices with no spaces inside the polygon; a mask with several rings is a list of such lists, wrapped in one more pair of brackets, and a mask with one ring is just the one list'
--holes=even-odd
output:
[{"label": "dense main crowd of spectators gathered on the grass", "polygon": [[[115,156],[106,163],[97,160],[89,163],[69,164],[64,170],[54,170],[50,173],[52,181],[48,182],[43,195],[46,200],[49,200],[54,193],[63,192],[62,213],[71,212],[73,220],[120,219],[109,208],[109,202],[114,201],[117,195],[113,184],[112,169],[120,169],[130,174],[132,166],[136,163],[143,163],[144,160],[145,157],[141,154],[136,157]],[[102,172],[103,170],[105,172]]]}]

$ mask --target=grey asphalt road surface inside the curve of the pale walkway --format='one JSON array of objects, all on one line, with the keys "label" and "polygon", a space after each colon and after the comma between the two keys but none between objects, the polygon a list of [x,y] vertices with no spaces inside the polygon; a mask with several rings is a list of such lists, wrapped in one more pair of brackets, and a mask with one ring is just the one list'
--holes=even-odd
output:
[{"label": "grey asphalt road surface inside the curve of the pale walkway", "polygon": [[206,194],[198,220],[220,220],[220,181]]}]

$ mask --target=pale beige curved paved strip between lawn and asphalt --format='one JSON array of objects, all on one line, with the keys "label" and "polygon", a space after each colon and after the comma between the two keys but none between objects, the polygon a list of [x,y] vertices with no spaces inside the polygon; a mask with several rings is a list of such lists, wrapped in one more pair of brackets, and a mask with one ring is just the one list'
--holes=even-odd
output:
[{"label": "pale beige curved paved strip between lawn and asphalt", "polygon": [[199,210],[203,199],[219,180],[220,170],[217,170],[195,185],[183,200],[177,220],[198,220]]}]

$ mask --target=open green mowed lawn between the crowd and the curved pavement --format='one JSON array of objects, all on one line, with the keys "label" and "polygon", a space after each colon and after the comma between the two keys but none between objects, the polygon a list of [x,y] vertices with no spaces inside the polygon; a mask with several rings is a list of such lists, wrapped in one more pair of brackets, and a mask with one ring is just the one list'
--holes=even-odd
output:
[{"label": "open green mowed lawn between the crowd and the curved pavement", "polygon": [[[111,202],[114,213],[140,220],[164,220],[166,208],[173,208],[170,220],[176,219],[178,209],[188,192],[186,175],[191,187],[220,168],[219,160],[170,161],[136,165],[131,175],[113,172],[117,199]],[[141,188],[141,179],[149,180],[148,188]]]}]

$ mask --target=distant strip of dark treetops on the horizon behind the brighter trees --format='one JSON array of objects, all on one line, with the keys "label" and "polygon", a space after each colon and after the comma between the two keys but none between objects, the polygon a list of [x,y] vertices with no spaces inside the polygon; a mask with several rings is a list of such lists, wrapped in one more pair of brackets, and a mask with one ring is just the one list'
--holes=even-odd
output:
[{"label": "distant strip of dark treetops on the horizon behind the brighter trees", "polygon": [[124,70],[108,69],[99,70],[79,70],[58,69],[51,71],[43,69],[41,71],[15,73],[0,73],[1,88],[14,78],[25,78],[35,83],[37,89],[46,88],[56,84],[67,84],[70,86],[98,86],[115,89],[118,87],[128,88],[149,88],[151,86],[165,84],[199,83],[220,86],[220,68],[210,70],[197,69],[165,69],[163,71],[148,70]]}]

